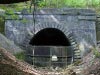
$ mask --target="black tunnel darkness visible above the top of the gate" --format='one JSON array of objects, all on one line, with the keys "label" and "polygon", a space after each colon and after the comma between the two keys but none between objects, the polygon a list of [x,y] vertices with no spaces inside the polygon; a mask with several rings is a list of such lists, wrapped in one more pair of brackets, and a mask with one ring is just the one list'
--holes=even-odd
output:
[{"label": "black tunnel darkness visible above the top of the gate", "polygon": [[65,34],[56,28],[45,28],[40,30],[30,40],[33,46],[71,46]]}]

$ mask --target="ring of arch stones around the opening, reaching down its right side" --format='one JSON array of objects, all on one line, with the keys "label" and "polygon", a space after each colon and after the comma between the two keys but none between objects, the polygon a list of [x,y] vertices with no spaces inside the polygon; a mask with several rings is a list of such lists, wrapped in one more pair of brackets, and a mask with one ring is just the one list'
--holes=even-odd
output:
[{"label": "ring of arch stones around the opening, reaching down its right side", "polygon": [[[80,50],[78,49],[78,44],[77,41],[75,40],[74,34],[71,30],[69,30],[67,28],[67,26],[61,25],[61,24],[50,24],[50,23],[46,23],[46,24],[38,24],[35,26],[35,33],[33,35],[33,37],[40,32],[43,29],[47,29],[47,28],[54,28],[54,29],[58,29],[60,30],[62,33],[64,33],[64,35],[68,38],[68,40],[70,41],[71,46],[74,49],[74,57],[72,61],[77,61],[77,59],[80,59]],[[31,37],[31,39],[33,38]],[[31,40],[30,39],[30,40]],[[77,57],[78,56],[78,57]]]}]

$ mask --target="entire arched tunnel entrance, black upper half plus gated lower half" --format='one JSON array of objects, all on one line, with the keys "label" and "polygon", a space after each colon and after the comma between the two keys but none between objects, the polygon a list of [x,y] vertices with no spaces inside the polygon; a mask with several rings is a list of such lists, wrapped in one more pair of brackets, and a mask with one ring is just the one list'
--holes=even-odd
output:
[{"label": "entire arched tunnel entrance, black upper half plus gated lower half", "polygon": [[[42,29],[34,35],[29,44],[34,46],[34,64],[39,67],[48,64],[62,67],[72,60],[71,43],[59,29]],[[53,56],[56,56],[56,61],[52,60]]]}]

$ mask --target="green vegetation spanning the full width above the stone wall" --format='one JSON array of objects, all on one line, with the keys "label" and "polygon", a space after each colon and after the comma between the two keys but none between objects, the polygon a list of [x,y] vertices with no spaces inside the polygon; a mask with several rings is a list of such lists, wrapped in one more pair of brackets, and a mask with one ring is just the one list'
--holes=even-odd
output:
[{"label": "green vegetation spanning the full width above the stone wall", "polygon": [[[1,9],[4,9],[6,13],[13,14],[13,12],[22,11],[23,9],[30,9],[34,7],[34,4],[38,8],[62,8],[62,7],[74,7],[74,8],[95,8],[99,10],[100,0],[33,0],[32,2],[22,2],[15,4],[0,5]],[[32,8],[33,9],[33,8]]]}]

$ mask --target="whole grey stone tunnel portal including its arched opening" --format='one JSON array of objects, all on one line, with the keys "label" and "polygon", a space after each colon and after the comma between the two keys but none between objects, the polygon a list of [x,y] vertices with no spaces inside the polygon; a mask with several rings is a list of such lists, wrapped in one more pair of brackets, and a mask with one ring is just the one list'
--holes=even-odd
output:
[{"label": "whole grey stone tunnel portal including its arched opening", "polygon": [[[49,55],[46,57],[49,60],[51,58],[50,50],[52,50],[54,51],[53,53],[57,55],[59,62],[60,56],[66,57],[63,56],[64,54],[57,54],[57,52],[66,53],[64,48],[60,50],[60,46],[72,46],[74,49],[73,52],[71,52],[71,49],[67,50],[67,61],[69,61],[71,55],[73,55],[73,61],[76,62],[88,53],[88,50],[90,50],[88,45],[96,45],[96,14],[94,10],[39,8],[35,11],[34,15],[33,12],[27,11],[29,10],[25,9],[21,13],[16,14],[22,16],[19,16],[17,18],[18,20],[13,19],[8,14],[5,21],[5,36],[26,51],[26,61],[28,63],[31,63],[30,55],[33,53],[33,50],[34,56],[43,57],[43,55]],[[22,18],[27,20],[27,22],[23,22],[21,20]],[[80,48],[83,39],[86,43],[84,45],[84,53]],[[45,46],[51,47],[46,48]],[[64,62],[65,60],[61,61]]]}]

